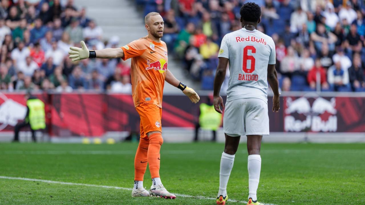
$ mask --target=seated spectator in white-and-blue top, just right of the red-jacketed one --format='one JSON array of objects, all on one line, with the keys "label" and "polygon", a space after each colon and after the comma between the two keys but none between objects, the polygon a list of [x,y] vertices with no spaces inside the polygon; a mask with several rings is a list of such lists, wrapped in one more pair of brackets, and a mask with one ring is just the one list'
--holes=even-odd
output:
[{"label": "seated spectator in white-and-blue top, just right of the red-jacketed one", "polygon": [[337,61],[327,71],[328,84],[331,90],[350,91],[349,73],[341,68],[341,62]]}]

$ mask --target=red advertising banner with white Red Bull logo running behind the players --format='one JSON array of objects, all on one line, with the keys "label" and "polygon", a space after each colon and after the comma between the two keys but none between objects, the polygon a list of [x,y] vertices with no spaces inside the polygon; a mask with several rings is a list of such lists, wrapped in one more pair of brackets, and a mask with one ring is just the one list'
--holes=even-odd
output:
[{"label": "red advertising banner with white Red Bull logo running behind the players", "polygon": [[[132,97],[125,94],[62,93],[36,94],[46,105],[46,132],[50,136],[103,136],[109,131],[139,132],[139,116]],[[208,102],[201,96],[200,102]],[[225,101],[225,99],[224,99]],[[271,112],[270,132],[364,132],[365,98],[297,97],[281,98],[281,109]],[[195,127],[199,104],[183,95],[165,95],[164,127]],[[26,114],[24,94],[0,93],[0,132],[13,131]]]}]

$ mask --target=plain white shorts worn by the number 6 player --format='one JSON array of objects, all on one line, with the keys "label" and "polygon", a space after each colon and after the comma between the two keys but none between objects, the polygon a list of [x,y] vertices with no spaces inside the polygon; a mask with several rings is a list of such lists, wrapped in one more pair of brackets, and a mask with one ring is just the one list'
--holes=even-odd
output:
[{"label": "plain white shorts worn by the number 6 player", "polygon": [[268,104],[259,98],[226,102],[223,129],[229,136],[269,135]]}]

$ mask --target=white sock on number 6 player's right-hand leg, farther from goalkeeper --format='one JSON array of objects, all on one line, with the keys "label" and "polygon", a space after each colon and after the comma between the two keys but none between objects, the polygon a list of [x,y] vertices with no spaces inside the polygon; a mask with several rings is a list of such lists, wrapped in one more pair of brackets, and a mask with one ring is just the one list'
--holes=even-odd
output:
[{"label": "white sock on number 6 player's right-hand leg, farther from goalkeeper", "polygon": [[247,169],[249,170],[249,197],[257,201],[257,187],[260,181],[261,156],[258,154],[249,155],[247,160]]}]

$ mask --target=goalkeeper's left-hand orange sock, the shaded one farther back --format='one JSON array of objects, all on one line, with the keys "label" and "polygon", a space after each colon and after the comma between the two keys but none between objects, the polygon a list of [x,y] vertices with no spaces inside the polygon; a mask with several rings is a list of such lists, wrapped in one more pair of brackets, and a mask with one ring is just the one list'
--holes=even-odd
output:
[{"label": "goalkeeper's left-hand orange sock, the shaded one farther back", "polygon": [[139,144],[134,158],[134,180],[143,181],[147,168],[147,151],[149,140],[146,138],[139,138]]}]

